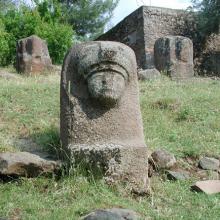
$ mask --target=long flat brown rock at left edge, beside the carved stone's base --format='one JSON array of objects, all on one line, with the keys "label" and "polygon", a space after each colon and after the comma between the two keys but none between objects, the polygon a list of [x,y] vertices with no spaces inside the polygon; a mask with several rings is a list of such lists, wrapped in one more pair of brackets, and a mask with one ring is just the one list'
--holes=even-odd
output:
[{"label": "long flat brown rock at left edge, beside the carved stone's base", "polygon": [[57,173],[60,162],[46,160],[28,152],[0,153],[0,175],[37,177]]}]

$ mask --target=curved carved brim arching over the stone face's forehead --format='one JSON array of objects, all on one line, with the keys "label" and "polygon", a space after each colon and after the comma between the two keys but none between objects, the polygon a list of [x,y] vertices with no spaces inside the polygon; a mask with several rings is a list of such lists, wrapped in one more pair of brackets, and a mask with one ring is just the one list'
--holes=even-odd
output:
[{"label": "curved carved brim arching over the stone face's forehead", "polygon": [[97,64],[93,64],[90,66],[90,71],[85,74],[85,78],[90,78],[93,74],[103,73],[103,72],[112,72],[120,74],[124,77],[125,81],[128,80],[129,74],[128,71],[120,64],[114,62],[101,62]]}]

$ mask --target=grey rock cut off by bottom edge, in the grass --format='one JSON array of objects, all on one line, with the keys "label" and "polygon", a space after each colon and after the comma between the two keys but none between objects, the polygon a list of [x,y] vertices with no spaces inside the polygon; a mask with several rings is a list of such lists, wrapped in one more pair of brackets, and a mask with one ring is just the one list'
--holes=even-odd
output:
[{"label": "grey rock cut off by bottom edge, in the grass", "polygon": [[83,220],[138,220],[138,215],[128,209],[97,210],[85,216]]}]

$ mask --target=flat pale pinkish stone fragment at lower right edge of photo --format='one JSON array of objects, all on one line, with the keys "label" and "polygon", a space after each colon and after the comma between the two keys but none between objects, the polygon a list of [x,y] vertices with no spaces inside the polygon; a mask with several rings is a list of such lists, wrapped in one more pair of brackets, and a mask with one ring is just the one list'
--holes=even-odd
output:
[{"label": "flat pale pinkish stone fragment at lower right edge of photo", "polygon": [[220,180],[198,181],[191,188],[206,194],[220,193]]}]

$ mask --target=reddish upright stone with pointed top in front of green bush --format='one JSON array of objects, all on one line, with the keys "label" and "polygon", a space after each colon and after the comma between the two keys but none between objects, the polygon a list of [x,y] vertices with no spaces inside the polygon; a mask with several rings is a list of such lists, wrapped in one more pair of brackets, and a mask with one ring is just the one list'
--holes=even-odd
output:
[{"label": "reddish upright stone with pointed top in front of green bush", "polygon": [[19,73],[38,75],[51,68],[52,62],[44,40],[32,35],[18,41],[16,69]]}]

